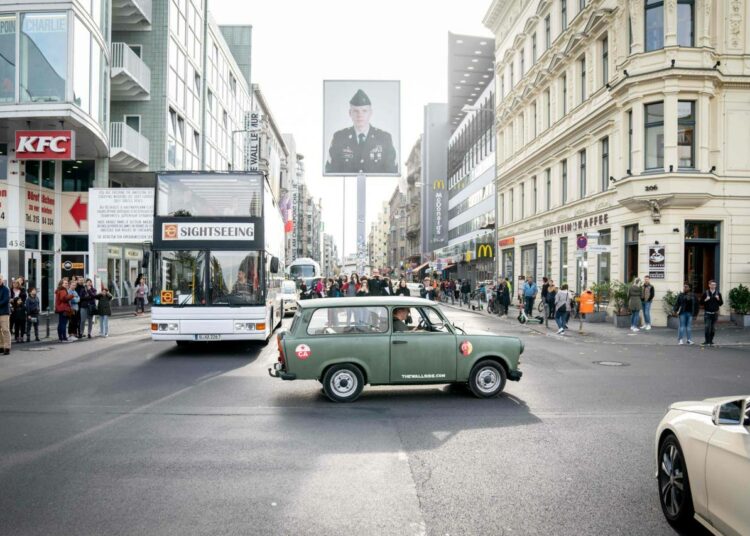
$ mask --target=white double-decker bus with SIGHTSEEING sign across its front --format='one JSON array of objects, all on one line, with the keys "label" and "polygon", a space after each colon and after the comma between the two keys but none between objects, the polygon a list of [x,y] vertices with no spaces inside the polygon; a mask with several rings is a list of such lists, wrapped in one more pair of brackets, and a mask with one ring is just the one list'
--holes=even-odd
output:
[{"label": "white double-decker bus with SIGHTSEEING sign across its front", "polygon": [[284,314],[284,249],[263,175],[157,175],[151,338],[267,340]]}]

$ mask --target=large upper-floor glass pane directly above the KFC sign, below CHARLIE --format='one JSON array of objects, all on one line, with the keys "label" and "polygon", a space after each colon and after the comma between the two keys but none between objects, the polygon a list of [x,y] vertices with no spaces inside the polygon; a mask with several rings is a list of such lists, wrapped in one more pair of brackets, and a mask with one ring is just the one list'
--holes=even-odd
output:
[{"label": "large upper-floor glass pane directly above the KFC sign, below CHARLIE", "polygon": [[68,72],[68,14],[21,15],[20,99],[63,102]]}]

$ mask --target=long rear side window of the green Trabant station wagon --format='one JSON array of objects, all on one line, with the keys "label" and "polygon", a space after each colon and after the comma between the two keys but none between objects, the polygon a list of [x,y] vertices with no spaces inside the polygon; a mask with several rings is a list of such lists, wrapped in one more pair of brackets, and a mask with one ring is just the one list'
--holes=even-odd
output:
[{"label": "long rear side window of the green Trabant station wagon", "polygon": [[359,335],[386,331],[388,309],[385,307],[324,307],[312,314],[307,325],[308,335]]}]

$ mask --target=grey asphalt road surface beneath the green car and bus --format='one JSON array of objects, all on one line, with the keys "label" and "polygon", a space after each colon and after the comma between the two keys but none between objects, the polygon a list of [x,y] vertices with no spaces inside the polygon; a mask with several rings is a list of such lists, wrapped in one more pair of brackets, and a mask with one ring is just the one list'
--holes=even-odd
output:
[{"label": "grey asphalt road surface beneath the green car and bus", "polygon": [[493,400],[368,387],[335,405],[268,377],[275,344],[185,350],[131,331],[19,347],[0,358],[0,534],[675,534],[656,424],[672,401],[746,392],[747,348],[583,343],[447,313],[521,335],[522,381]]}]

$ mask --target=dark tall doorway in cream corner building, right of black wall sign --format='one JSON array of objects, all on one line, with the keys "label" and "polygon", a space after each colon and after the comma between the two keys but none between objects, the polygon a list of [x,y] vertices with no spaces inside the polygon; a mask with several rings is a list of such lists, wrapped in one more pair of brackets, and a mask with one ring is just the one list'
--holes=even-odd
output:
[{"label": "dark tall doorway in cream corner building, right of black wall sign", "polygon": [[684,278],[693,292],[699,294],[715,280],[720,285],[720,222],[685,222]]}]

